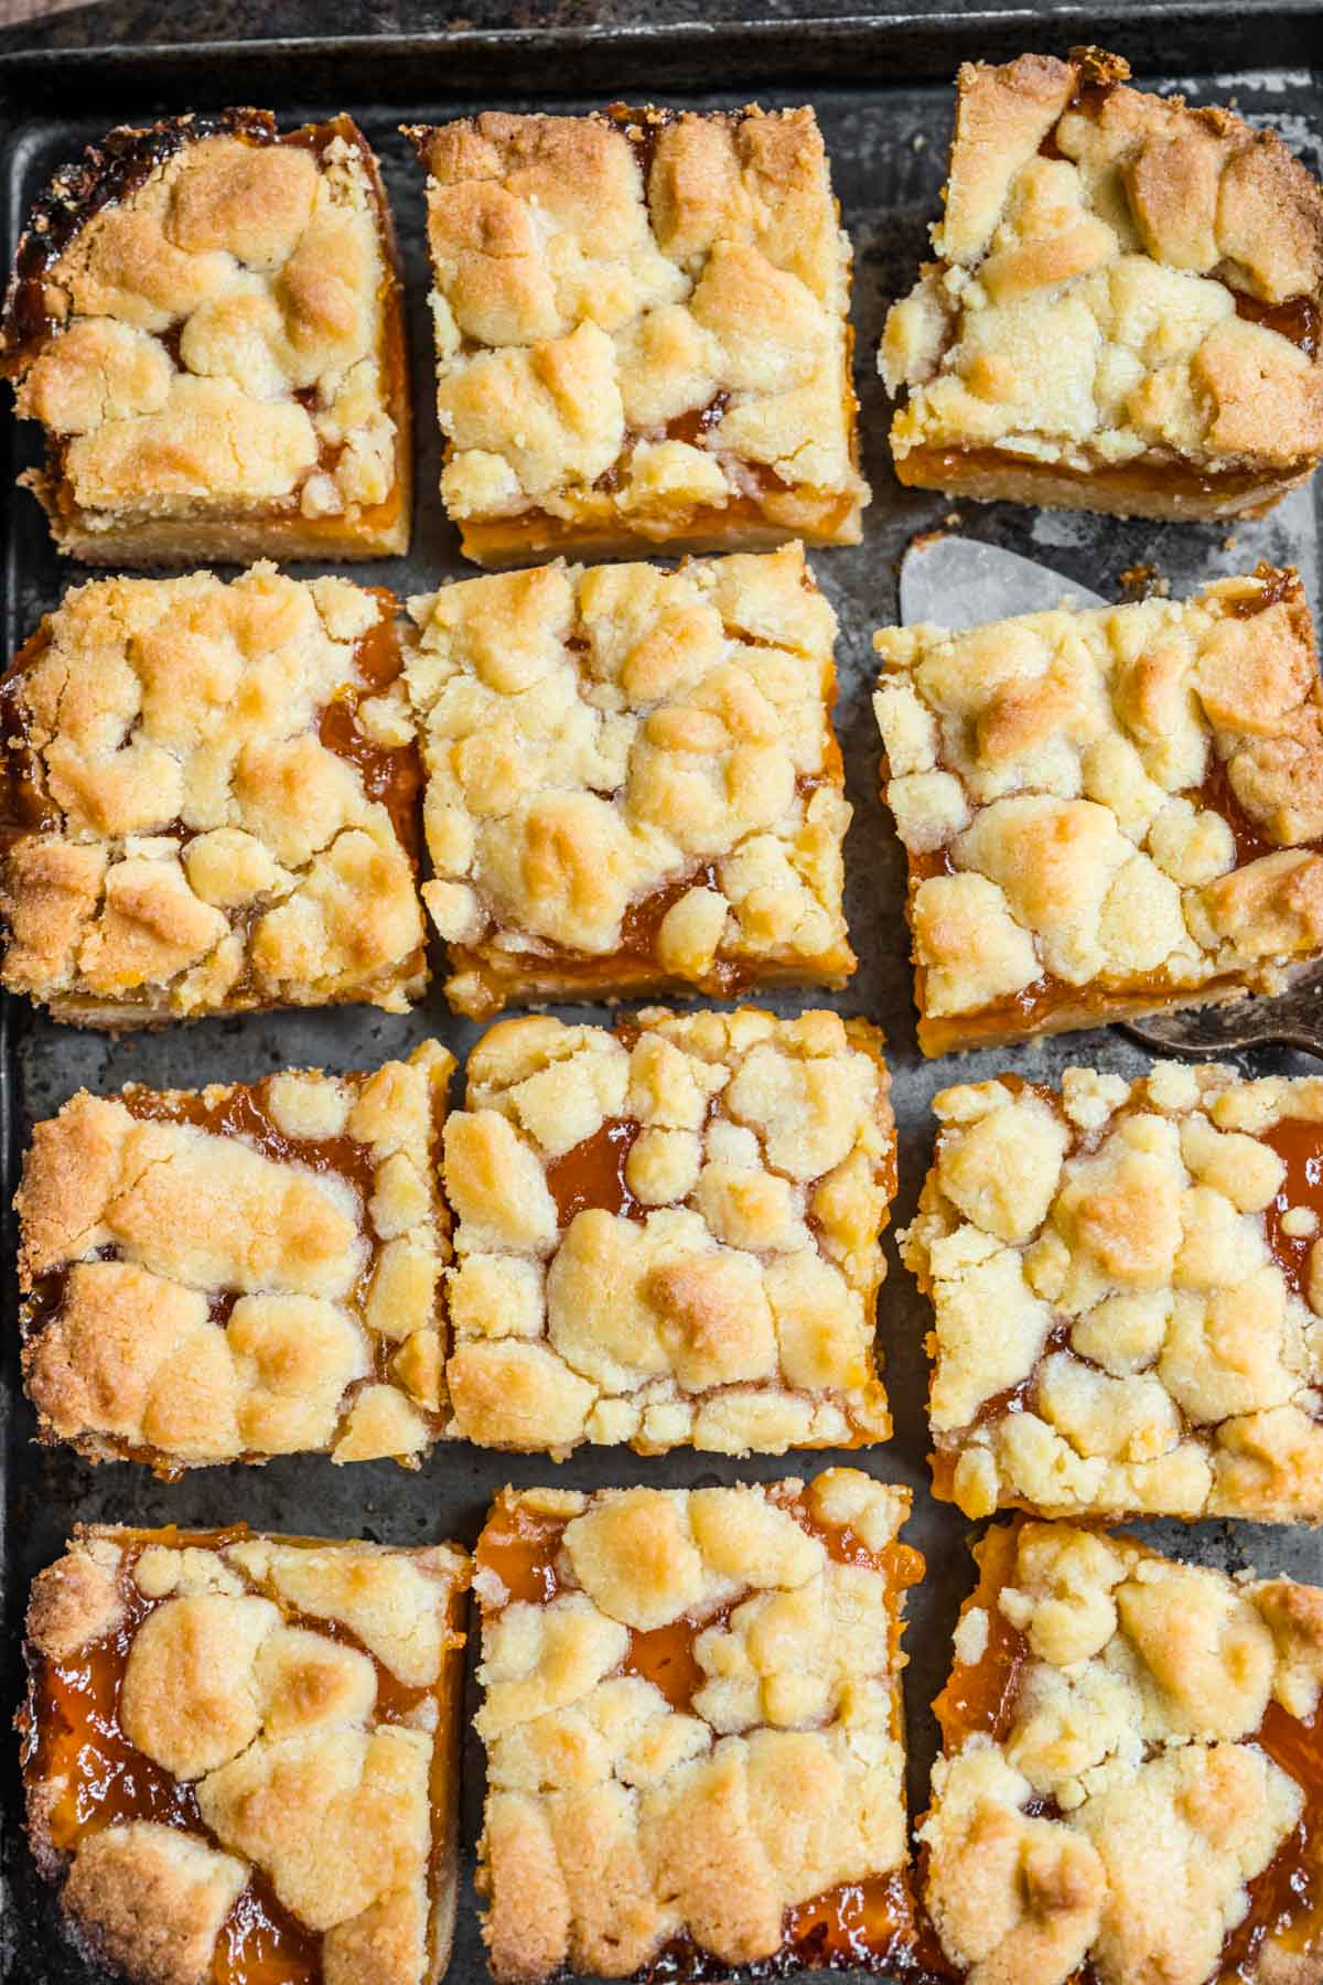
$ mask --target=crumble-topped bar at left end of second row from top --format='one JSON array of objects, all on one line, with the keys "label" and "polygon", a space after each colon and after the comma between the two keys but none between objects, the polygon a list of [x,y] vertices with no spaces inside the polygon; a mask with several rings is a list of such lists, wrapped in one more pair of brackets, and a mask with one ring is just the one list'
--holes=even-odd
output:
[{"label": "crumble-topped bar at left end of second row from top", "polygon": [[91,580],[0,677],[0,985],[143,1026],[426,987],[395,601]]}]

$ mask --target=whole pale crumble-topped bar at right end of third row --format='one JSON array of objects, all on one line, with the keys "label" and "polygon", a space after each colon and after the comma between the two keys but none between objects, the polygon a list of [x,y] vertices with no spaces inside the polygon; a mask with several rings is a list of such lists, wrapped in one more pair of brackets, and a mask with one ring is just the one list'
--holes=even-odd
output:
[{"label": "whole pale crumble-topped bar at right end of third row", "polygon": [[901,1253],[966,1517],[1323,1521],[1323,1082],[942,1090]]}]

